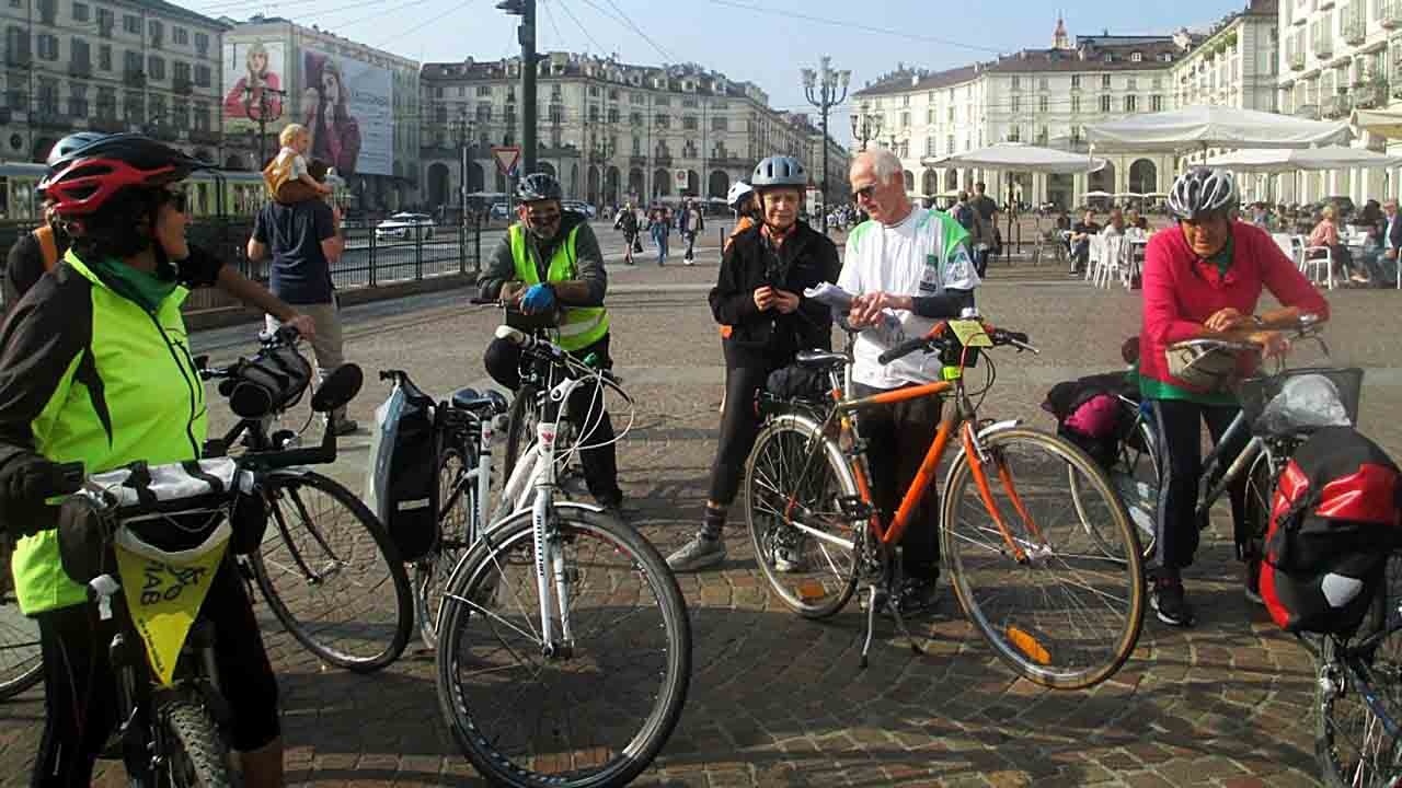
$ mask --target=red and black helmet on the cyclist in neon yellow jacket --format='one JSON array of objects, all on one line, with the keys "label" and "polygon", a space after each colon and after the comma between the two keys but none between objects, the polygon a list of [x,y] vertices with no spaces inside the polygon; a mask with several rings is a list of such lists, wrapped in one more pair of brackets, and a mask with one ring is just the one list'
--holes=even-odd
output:
[{"label": "red and black helmet on the cyclist in neon yellow jacket", "polygon": [[39,191],[59,216],[84,216],[126,186],[163,186],[209,167],[142,135],[111,135],[55,161]]}]

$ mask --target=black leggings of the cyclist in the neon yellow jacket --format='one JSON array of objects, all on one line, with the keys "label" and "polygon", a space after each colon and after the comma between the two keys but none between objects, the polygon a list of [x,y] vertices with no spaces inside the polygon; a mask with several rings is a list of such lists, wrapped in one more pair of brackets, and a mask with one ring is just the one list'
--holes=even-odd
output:
[{"label": "black leggings of the cyclist in the neon yellow jacket", "polygon": [[[233,561],[224,561],[200,614],[215,628],[215,665],[233,715],[230,743],[259,750],[280,736],[278,680]],[[79,604],[35,616],[43,653],[43,738],[34,788],[87,788],[93,766],[116,728],[116,676],[108,645],[116,628],[97,607]]]}]

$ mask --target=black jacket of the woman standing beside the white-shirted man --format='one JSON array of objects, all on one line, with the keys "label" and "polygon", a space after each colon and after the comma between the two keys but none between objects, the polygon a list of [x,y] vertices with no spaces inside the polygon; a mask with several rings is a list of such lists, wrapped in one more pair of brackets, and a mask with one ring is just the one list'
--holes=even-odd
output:
[{"label": "black jacket of the woman standing beside the white-shirted man", "polygon": [[[831,349],[831,311],[805,299],[803,290],[837,282],[841,268],[833,241],[803,222],[778,250],[764,236],[763,224],[736,236],[711,289],[711,313],[716,322],[730,327],[725,342],[732,353],[773,367],[788,363],[798,351]],[[764,286],[798,294],[798,311],[760,311],[754,292]]]}]

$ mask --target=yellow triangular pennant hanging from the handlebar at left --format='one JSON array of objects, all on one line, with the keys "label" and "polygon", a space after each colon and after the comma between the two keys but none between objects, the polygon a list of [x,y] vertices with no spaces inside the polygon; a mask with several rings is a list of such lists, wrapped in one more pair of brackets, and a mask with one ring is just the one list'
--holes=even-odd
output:
[{"label": "yellow triangular pennant hanging from the handlebar at left", "polygon": [[116,568],[122,575],[126,607],[146,642],[146,656],[161,686],[170,686],[175,676],[185,635],[223,558],[224,545],[181,564],[154,561],[116,545]]}]

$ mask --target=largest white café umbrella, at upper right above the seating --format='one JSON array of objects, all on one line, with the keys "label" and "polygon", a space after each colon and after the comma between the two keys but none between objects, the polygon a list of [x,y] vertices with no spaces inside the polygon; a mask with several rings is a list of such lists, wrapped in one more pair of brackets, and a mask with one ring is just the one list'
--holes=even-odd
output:
[{"label": "largest white caf\u00e9 umbrella, at upper right above the seating", "polygon": [[1209,147],[1309,147],[1342,143],[1349,125],[1274,112],[1197,105],[1092,123],[1085,137],[1101,153],[1183,153]]}]

